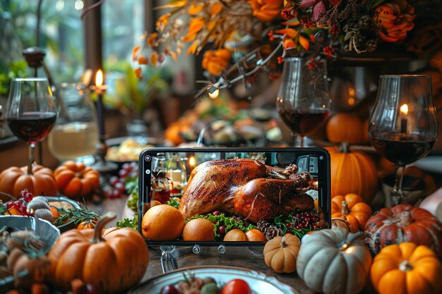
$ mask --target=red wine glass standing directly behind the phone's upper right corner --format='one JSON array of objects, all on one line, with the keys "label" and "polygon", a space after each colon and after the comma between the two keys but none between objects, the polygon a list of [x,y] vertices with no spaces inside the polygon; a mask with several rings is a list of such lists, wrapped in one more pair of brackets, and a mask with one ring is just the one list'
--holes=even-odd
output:
[{"label": "red wine glass standing directly behind the phone's upper right corner", "polygon": [[288,57],[284,61],[276,109],[282,121],[294,132],[295,145],[300,142],[299,145],[304,147],[304,137],[330,116],[326,64],[325,60],[300,57]]}]

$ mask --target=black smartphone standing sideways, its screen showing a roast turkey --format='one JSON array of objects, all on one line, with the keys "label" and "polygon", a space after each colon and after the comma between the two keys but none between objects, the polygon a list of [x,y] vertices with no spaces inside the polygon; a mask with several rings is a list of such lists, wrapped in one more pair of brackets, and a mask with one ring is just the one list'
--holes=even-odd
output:
[{"label": "black smartphone standing sideways, its screen showing a roast turkey", "polygon": [[[323,148],[149,148],[140,154],[138,179],[142,235],[153,200],[174,201],[185,219],[222,213],[253,227],[305,211],[320,217],[314,228],[330,227],[330,154]],[[224,241],[221,233],[214,241],[145,240],[150,245],[251,243]]]}]

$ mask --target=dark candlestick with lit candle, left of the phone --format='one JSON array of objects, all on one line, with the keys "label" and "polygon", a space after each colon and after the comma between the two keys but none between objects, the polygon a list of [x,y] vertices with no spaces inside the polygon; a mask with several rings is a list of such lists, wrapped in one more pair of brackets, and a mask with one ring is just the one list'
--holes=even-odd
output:
[{"label": "dark candlestick with lit candle, left of the phone", "polygon": [[106,173],[109,171],[114,171],[118,168],[117,164],[113,162],[106,161],[107,154],[107,144],[106,144],[106,130],[104,129],[104,112],[103,112],[103,94],[107,89],[107,85],[103,83],[103,73],[101,70],[97,71],[97,75],[95,75],[95,85],[92,85],[90,89],[97,94],[97,121],[98,121],[98,129],[99,129],[99,142],[97,144],[97,157],[98,161],[95,161],[95,164],[92,164],[92,167],[97,171]]}]

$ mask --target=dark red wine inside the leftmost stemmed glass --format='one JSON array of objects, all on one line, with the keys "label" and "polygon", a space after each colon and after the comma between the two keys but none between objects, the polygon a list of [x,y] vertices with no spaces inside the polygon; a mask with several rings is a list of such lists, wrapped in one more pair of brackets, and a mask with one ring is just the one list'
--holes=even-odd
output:
[{"label": "dark red wine inside the leftmost stemmed glass", "polygon": [[23,112],[20,117],[6,118],[11,132],[28,143],[36,143],[46,137],[55,124],[54,112]]}]

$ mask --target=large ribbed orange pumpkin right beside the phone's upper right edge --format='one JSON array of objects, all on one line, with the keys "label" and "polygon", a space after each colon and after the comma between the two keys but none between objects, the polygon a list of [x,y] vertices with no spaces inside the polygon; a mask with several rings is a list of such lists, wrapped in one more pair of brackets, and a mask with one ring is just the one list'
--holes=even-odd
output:
[{"label": "large ribbed orange pumpkin right beside the phone's upper right edge", "polygon": [[370,203],[378,190],[373,160],[364,152],[350,152],[347,145],[326,147],[331,161],[331,195],[356,193]]}]

